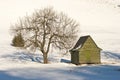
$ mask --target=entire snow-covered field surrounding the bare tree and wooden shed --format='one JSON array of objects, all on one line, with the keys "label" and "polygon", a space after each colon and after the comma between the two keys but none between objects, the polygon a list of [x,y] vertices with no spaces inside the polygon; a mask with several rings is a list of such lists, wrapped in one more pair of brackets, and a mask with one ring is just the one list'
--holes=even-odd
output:
[{"label": "entire snow-covered field surrounding the bare tree and wooden shed", "polygon": [[[120,0],[1,0],[0,80],[120,80],[118,5]],[[10,24],[26,12],[45,6],[53,6],[80,22],[78,35],[91,35],[103,49],[102,64],[76,66],[69,63],[70,55],[53,53],[49,55],[50,63],[42,64],[39,52],[29,54],[10,46]]]}]

